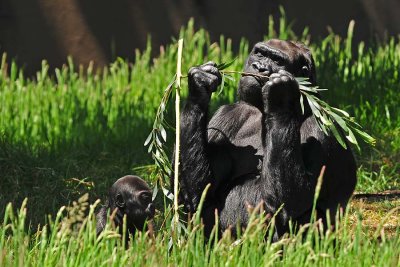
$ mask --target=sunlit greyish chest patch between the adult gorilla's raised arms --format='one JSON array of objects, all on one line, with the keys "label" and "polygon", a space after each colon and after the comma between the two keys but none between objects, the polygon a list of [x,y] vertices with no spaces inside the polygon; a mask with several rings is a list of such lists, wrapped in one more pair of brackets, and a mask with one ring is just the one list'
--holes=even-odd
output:
[{"label": "sunlit greyish chest patch between the adult gorilla's raised arms", "polygon": [[261,111],[245,102],[221,106],[208,124],[208,142],[257,145],[261,142],[261,119]]}]

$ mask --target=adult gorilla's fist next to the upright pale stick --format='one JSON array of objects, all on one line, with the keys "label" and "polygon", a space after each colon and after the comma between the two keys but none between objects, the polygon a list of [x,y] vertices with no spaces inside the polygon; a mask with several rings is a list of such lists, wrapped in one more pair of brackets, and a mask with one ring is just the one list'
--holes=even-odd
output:
[{"label": "adult gorilla's fist next to the upright pale stick", "polygon": [[189,70],[189,99],[199,104],[208,105],[212,92],[221,84],[221,74],[217,65],[210,61],[206,64],[192,67]]}]

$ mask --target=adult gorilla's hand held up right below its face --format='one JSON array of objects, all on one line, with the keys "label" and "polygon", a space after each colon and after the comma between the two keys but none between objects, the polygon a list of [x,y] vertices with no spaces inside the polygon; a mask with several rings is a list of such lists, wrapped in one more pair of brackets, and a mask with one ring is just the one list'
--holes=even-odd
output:
[{"label": "adult gorilla's hand held up right below its face", "polygon": [[293,75],[285,70],[270,75],[262,88],[264,112],[301,115],[299,84]]}]

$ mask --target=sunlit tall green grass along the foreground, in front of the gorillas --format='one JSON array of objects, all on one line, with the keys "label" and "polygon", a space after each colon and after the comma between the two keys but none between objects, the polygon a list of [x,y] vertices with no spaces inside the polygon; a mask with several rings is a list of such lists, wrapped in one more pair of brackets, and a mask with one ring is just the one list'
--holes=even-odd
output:
[{"label": "sunlit tall green grass along the foreground, in front of the gorillas", "polygon": [[[318,223],[301,228],[276,243],[265,216],[253,213],[237,238],[225,232],[205,239],[199,222],[189,223],[179,236],[172,234],[171,216],[155,233],[138,233],[126,249],[110,224],[96,236],[94,210],[81,197],[62,207],[54,219],[36,232],[26,227],[26,202],[16,213],[7,206],[0,225],[0,266],[399,266],[400,229],[391,237],[378,227],[369,237],[348,214],[336,232],[320,234]],[[85,212],[88,216],[83,216]],[[168,217],[168,214],[164,215]],[[384,221],[382,221],[384,223]],[[265,238],[267,236],[267,238]]]}]

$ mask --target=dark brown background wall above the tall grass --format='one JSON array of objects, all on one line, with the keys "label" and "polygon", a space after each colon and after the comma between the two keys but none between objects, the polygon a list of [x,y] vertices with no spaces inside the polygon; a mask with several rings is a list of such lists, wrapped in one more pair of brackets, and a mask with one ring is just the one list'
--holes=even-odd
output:
[{"label": "dark brown background wall above the tall grass", "polygon": [[114,56],[132,58],[148,34],[154,47],[169,43],[190,17],[214,40],[224,34],[256,42],[268,15],[279,17],[279,5],[297,32],[308,25],[313,37],[326,35],[327,25],[344,35],[351,19],[357,40],[400,33],[399,0],[0,0],[0,53],[28,73],[44,58],[60,66],[67,55],[101,66]]}]

